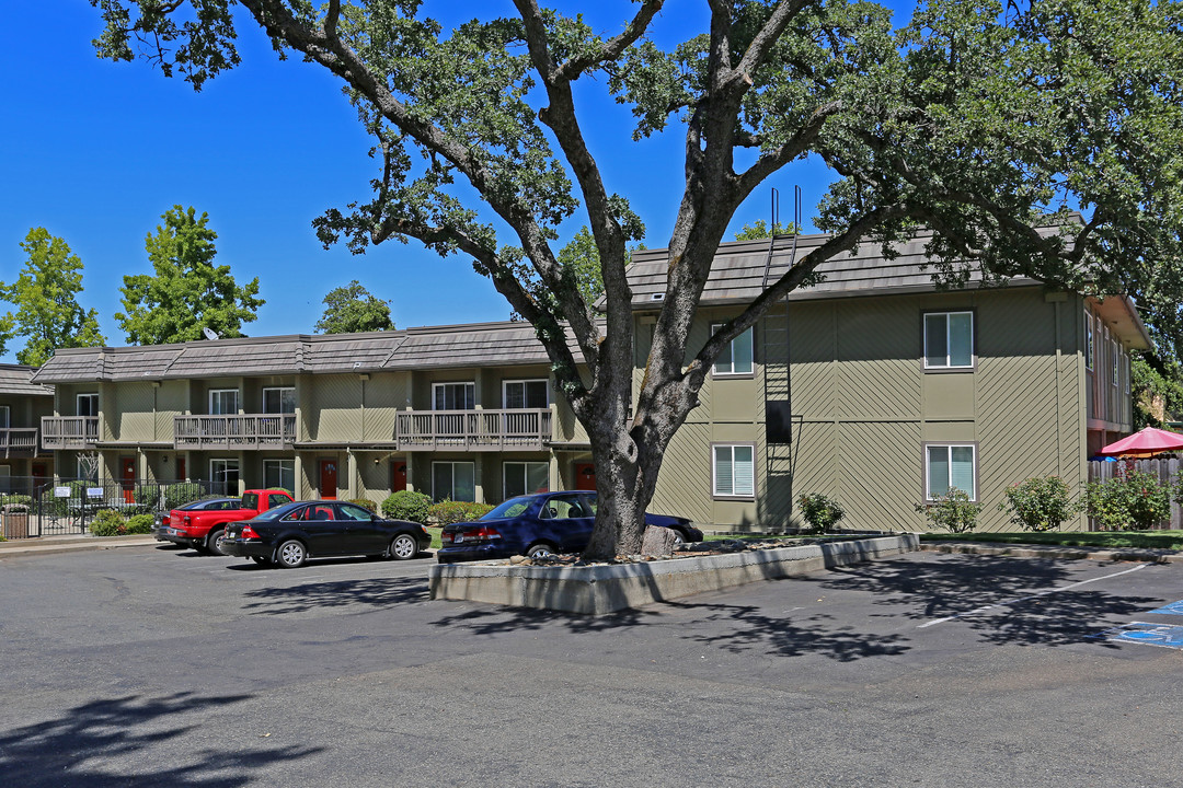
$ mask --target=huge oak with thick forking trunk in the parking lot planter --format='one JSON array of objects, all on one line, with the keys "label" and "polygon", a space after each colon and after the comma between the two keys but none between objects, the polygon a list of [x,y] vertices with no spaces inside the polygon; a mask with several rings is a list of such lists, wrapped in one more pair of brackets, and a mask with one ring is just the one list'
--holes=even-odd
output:
[{"label": "huge oak with thick forking trunk in the parking lot planter", "polygon": [[[130,59],[132,43],[146,43],[149,59],[194,87],[238,63],[228,0],[92,2],[106,21],[102,56]],[[315,222],[322,241],[361,252],[414,237],[460,252],[534,324],[592,444],[600,507],[589,558],[639,547],[666,448],[713,359],[860,240],[891,255],[887,245],[923,223],[949,285],[1023,274],[1179,300],[1178,267],[1163,265],[1183,260],[1177,2],[931,0],[894,31],[871,2],[709,0],[704,28],[668,48],[647,35],[662,0],[622,6],[608,35],[536,0],[446,33],[399,0],[238,5],[279,52],[340,77],[376,139],[373,197],[328,210]],[[685,137],[667,286],[636,391],[625,267],[644,224],[596,164],[580,80],[632,110],[634,139],[672,126]],[[814,220],[829,240],[691,346],[736,209],[807,156],[836,174]],[[551,248],[576,210],[600,256],[603,324]]]}]

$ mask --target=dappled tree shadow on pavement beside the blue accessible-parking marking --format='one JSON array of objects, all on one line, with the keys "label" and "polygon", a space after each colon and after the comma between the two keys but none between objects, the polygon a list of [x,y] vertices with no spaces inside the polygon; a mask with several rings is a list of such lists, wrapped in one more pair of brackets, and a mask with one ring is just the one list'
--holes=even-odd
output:
[{"label": "dappled tree shadow on pavement beside the blue accessible-parking marking", "polygon": [[[1114,572],[1131,568],[1113,566]],[[887,608],[881,616],[914,621],[956,617],[958,624],[997,645],[1080,643],[1161,601],[1088,585],[1046,593],[1088,580],[1072,572],[1080,567],[1080,561],[951,555],[842,567],[833,569],[821,587],[864,591],[870,604]]]}]

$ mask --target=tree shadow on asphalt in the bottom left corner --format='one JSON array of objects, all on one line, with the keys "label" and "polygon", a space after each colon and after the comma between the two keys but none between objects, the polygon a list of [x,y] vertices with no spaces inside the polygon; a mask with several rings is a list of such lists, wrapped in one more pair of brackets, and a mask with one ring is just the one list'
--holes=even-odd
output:
[{"label": "tree shadow on asphalt in the bottom left corner", "polygon": [[[259,747],[252,736],[224,737],[216,748],[199,747],[186,738],[201,724],[203,712],[250,697],[180,692],[84,703],[57,719],[0,732],[0,774],[5,784],[21,788],[231,788],[254,782],[260,773],[277,764],[321,750],[297,745]],[[151,770],[151,760],[146,760],[142,771],[127,773],[128,757],[136,758],[146,748],[159,747],[185,753],[185,766]]]}]

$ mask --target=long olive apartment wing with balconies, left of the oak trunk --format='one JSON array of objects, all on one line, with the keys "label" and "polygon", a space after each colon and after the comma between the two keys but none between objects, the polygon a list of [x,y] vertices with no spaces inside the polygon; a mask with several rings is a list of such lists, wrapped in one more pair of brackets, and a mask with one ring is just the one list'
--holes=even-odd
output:
[{"label": "long olive apartment wing with balconies, left of the oak trunk", "polygon": [[586,441],[524,323],[58,351],[43,443],[124,483],[500,500],[575,486]]}]

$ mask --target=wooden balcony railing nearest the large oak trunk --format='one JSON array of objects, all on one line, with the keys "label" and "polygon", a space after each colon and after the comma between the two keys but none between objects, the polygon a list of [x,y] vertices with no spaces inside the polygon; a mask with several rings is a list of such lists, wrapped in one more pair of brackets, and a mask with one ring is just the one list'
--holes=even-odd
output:
[{"label": "wooden balcony railing nearest the large oak trunk", "polygon": [[400,451],[541,451],[550,442],[547,408],[407,410],[394,423]]}]

